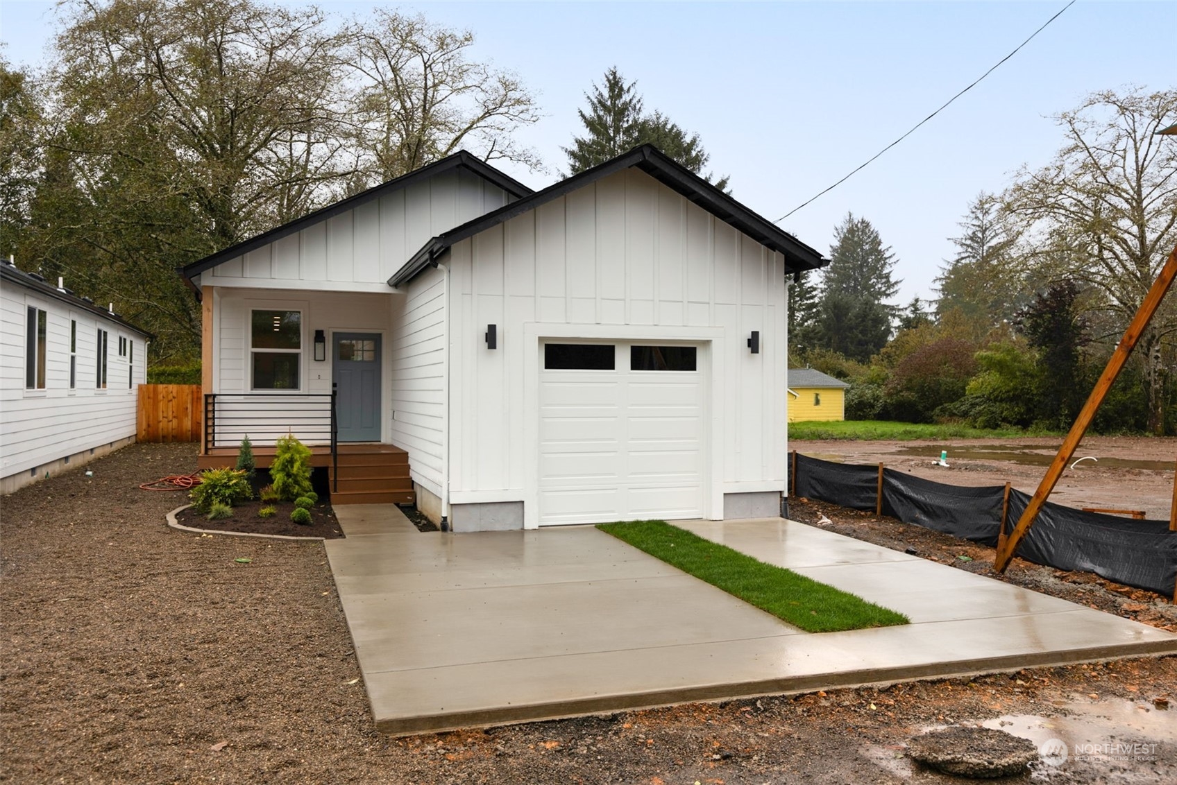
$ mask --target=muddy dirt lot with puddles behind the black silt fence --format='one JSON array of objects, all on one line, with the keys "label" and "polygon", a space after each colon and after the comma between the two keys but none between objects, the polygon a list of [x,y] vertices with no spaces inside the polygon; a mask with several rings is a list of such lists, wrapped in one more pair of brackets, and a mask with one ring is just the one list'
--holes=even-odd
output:
[{"label": "muddy dirt lot with puddles behind the black silt fence", "polygon": [[[1062,438],[957,439],[952,441],[790,441],[789,448],[847,464],[885,464],[950,485],[1004,485],[1033,493],[1055,458]],[[940,451],[949,467],[937,466]],[[1075,451],[1050,500],[1069,507],[1143,510],[1148,518],[1169,520],[1172,505],[1177,438],[1088,437]]]}]

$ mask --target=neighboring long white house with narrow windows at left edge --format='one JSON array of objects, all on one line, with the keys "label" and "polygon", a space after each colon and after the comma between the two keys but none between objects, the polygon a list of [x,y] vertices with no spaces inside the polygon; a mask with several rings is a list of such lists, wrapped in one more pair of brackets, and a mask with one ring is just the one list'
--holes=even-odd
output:
[{"label": "neighboring long white house with narrow windows at left edge", "polygon": [[0,264],[0,492],[135,439],[152,335]]}]

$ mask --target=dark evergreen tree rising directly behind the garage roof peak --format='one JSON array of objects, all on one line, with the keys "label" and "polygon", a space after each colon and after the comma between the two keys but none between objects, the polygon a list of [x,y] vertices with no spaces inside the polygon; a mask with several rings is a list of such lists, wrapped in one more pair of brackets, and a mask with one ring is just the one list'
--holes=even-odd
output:
[{"label": "dark evergreen tree rising directly behind the garage roof peak", "polygon": [[[604,164],[638,145],[653,145],[686,168],[711,182],[711,173],[703,168],[711,157],[703,149],[699,134],[689,133],[661,112],[643,113],[643,99],[637,92],[638,82],[626,82],[613,66],[605,72],[603,86],[592,86],[585,93],[588,108],[578,109],[584,124],[584,137],[573,137],[572,147],[564,147],[568,157],[568,173],[576,174]],[[727,191],[729,178],[713,185]]]}]

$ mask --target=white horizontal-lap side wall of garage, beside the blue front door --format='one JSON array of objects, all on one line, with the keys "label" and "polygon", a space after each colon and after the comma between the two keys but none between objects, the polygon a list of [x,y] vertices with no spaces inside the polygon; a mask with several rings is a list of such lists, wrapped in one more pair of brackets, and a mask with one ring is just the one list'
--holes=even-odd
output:
[{"label": "white horizontal-lap side wall of garage, beside the blue front door", "polygon": [[404,290],[390,341],[392,443],[408,452],[413,481],[445,499],[446,271],[424,272]]}]

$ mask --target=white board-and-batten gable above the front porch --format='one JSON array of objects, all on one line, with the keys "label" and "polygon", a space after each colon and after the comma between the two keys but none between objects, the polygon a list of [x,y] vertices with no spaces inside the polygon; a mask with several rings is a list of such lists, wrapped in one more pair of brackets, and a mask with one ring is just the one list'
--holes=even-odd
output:
[{"label": "white board-and-batten gable above the front porch", "polygon": [[512,198],[464,168],[392,191],[200,274],[201,286],[387,292],[430,238]]}]

